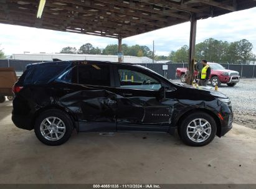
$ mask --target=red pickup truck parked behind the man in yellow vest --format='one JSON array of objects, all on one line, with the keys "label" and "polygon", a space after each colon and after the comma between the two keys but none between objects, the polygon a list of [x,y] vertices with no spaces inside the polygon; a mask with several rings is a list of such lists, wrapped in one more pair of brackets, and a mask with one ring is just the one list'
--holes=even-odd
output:
[{"label": "red pickup truck parked behind the man in yellow vest", "polygon": [[[220,86],[221,83],[226,83],[228,86],[235,86],[239,80],[239,72],[234,70],[227,70],[219,63],[207,63],[211,67],[210,81],[212,86]],[[187,68],[177,68],[176,76],[181,78],[181,83],[186,83]],[[198,71],[194,71],[194,75],[197,75]]]}]

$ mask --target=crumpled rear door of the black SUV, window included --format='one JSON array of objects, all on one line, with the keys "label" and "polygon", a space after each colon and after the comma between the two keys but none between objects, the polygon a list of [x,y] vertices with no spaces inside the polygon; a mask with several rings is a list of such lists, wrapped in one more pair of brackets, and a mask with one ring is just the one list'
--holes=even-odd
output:
[{"label": "crumpled rear door of the black SUV, window included", "polygon": [[110,64],[80,63],[60,80],[65,81],[60,103],[75,114],[79,131],[116,131],[117,104],[116,94],[111,92],[114,84]]}]

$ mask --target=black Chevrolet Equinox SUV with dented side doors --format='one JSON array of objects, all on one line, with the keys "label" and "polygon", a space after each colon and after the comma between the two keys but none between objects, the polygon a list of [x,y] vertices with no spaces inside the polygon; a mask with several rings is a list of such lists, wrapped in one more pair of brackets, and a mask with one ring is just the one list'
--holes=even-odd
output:
[{"label": "black Chevrolet Equinox SUV with dented side doors", "polygon": [[93,61],[36,63],[14,85],[12,121],[47,145],[77,132],[168,132],[209,144],[232,128],[229,98],[172,83],[140,65]]}]

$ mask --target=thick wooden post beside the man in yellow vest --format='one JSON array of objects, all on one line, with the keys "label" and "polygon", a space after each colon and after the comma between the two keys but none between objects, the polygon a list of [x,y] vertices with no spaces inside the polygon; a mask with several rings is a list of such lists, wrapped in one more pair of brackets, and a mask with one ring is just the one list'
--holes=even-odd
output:
[{"label": "thick wooden post beside the man in yellow vest", "polygon": [[189,37],[189,78],[187,78],[187,84],[192,85],[194,80],[194,55],[196,47],[196,14],[192,13],[190,17],[190,37]]}]

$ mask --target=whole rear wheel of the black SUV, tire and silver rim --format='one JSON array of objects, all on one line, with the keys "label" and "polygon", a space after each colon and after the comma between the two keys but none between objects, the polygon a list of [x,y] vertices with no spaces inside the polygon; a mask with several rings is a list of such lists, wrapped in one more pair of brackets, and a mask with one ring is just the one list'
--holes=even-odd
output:
[{"label": "whole rear wheel of the black SUV, tire and silver rim", "polygon": [[59,109],[44,111],[36,119],[34,131],[39,141],[46,145],[61,145],[69,140],[73,124],[69,115]]}]

